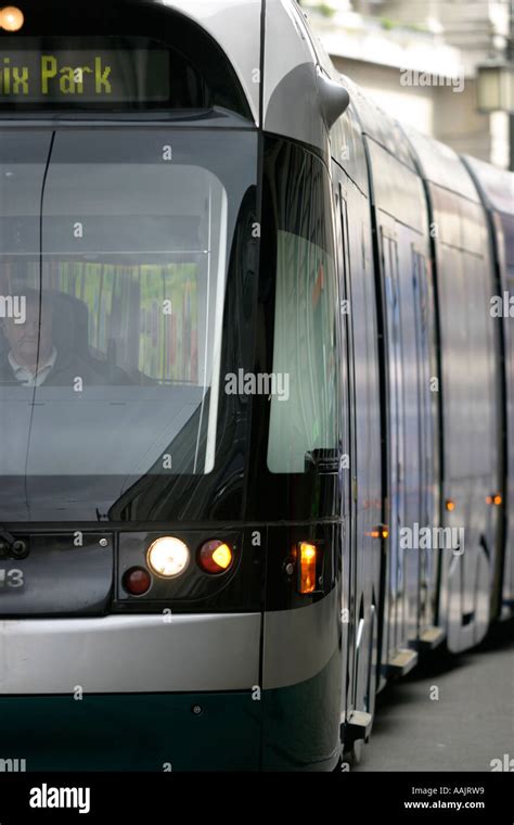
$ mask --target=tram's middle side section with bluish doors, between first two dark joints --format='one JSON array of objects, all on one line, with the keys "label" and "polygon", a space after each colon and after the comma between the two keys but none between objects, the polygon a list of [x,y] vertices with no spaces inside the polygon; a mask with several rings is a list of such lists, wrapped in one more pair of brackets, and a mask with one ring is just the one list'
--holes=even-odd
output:
[{"label": "tram's middle side section with bluish doors, between first two dark joints", "polygon": [[[404,138],[402,141],[404,144]],[[426,308],[423,309],[422,299],[416,293],[421,287],[425,287],[426,292],[426,266],[423,264],[423,275],[417,268],[420,259],[428,258],[428,221],[421,181],[410,166],[391,157],[375,140],[367,139],[367,145],[373,179],[387,346],[390,493],[385,518],[389,529],[388,610],[387,618],[384,617],[382,651],[387,667],[398,651],[416,644],[427,620],[429,626],[435,624],[437,559],[431,549],[410,546],[421,528],[432,529],[435,523],[437,466],[432,456],[425,456],[425,478],[422,479],[420,459],[421,422],[424,432],[435,429],[436,409],[431,404],[426,382],[434,360],[431,354],[435,340],[433,331],[421,329],[421,314],[426,319]],[[426,295],[423,300],[426,301]],[[419,307],[417,315],[412,312],[413,306]]]}]

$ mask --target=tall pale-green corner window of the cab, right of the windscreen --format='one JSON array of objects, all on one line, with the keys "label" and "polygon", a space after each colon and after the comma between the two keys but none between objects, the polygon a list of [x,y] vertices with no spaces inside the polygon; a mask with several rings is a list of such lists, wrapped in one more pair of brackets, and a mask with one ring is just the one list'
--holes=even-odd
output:
[{"label": "tall pale-green corner window of the cab, right of the windscreen", "polygon": [[338,441],[330,194],[320,162],[303,160],[299,179],[297,169],[285,168],[279,181],[284,215],[277,238],[273,377],[282,392],[271,395],[267,460],[273,473],[303,473],[312,450],[335,450]]}]

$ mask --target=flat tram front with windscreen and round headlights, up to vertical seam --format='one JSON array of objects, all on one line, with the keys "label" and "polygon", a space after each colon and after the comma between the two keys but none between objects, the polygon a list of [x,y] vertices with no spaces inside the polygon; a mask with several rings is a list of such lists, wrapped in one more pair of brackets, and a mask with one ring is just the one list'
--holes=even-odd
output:
[{"label": "flat tram front with windscreen and round headlights, up to vertical seam", "polygon": [[254,117],[187,16],[22,7],[0,31],[0,758],[256,767],[248,404],[222,378],[252,366]]}]

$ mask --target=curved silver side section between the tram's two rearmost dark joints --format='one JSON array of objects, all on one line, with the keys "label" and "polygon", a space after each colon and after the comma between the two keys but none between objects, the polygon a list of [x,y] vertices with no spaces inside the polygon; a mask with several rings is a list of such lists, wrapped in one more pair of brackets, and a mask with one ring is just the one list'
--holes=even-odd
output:
[{"label": "curved silver side section between the tram's two rearmost dark joints", "polygon": [[[487,487],[500,482],[498,345],[488,313],[492,262],[484,210],[466,170],[448,148],[434,143],[431,151],[427,139],[411,131],[409,136],[428,179],[436,227],[445,424],[442,497],[454,506],[444,512],[444,526],[453,530],[453,537],[465,538],[462,553],[460,545],[442,553],[441,609],[448,621],[449,646],[459,650],[475,644],[487,630],[488,594],[498,551],[498,518],[486,503],[490,496]],[[445,180],[450,168],[455,192],[433,182]],[[470,376],[474,376],[471,381]]]}]

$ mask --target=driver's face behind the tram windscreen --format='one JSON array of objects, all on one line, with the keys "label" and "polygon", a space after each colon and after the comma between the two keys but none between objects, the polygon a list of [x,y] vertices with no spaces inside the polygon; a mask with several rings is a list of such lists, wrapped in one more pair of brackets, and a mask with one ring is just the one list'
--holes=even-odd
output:
[{"label": "driver's face behind the tram windscreen", "polygon": [[52,352],[52,310],[44,306],[40,313],[39,302],[27,301],[25,323],[14,323],[13,318],[7,318],[4,334],[20,364],[34,366],[38,348],[39,363],[42,363]]}]

